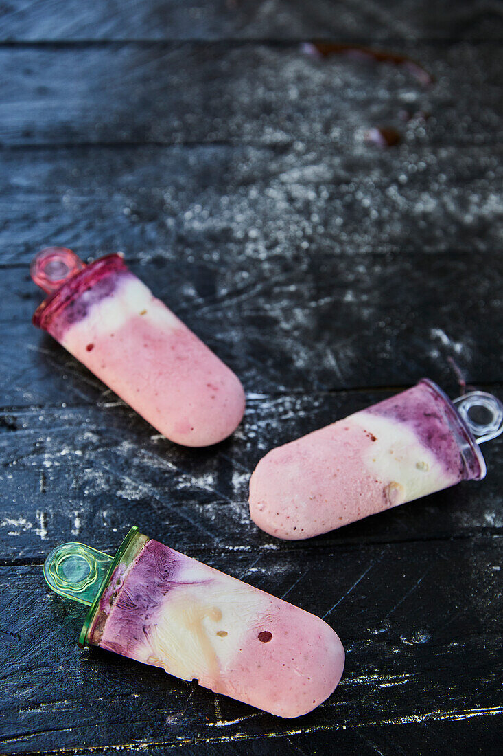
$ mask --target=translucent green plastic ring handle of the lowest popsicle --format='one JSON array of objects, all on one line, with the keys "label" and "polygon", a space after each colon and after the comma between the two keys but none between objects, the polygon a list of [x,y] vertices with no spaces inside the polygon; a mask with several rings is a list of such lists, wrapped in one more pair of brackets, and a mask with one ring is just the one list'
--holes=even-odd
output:
[{"label": "translucent green plastic ring handle of the lowest popsicle", "polygon": [[113,556],[85,544],[62,544],[44,562],[44,578],[54,593],[91,606],[106,580]]}]

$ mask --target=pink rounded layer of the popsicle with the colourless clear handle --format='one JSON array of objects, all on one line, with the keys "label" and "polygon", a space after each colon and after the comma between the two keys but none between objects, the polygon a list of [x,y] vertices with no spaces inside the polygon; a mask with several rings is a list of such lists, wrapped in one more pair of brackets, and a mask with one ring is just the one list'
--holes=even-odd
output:
[{"label": "pink rounded layer of the popsicle with the colourless clear handle", "polygon": [[250,480],[252,520],[276,538],[296,540],[387,509],[389,481],[362,464],[371,445],[364,429],[334,423],[273,449]]}]

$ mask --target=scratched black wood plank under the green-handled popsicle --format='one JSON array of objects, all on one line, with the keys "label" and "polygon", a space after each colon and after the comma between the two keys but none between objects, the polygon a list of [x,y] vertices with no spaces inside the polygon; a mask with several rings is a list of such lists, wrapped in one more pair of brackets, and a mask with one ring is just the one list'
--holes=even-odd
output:
[{"label": "scratched black wood plank under the green-handled popsicle", "polygon": [[[156,534],[166,535],[162,527]],[[285,721],[116,655],[82,652],[76,637],[85,610],[48,595],[40,565],[8,567],[1,571],[11,602],[2,613],[8,663],[0,706],[14,716],[4,752],[205,744],[216,753],[221,741],[285,735],[295,748],[300,733],[337,738],[347,729],[368,732],[372,742],[381,725],[421,721],[427,742],[430,723],[469,718],[495,732],[501,539],[468,548],[460,541],[329,546],[304,553],[301,571],[298,559],[267,550],[193,556],[326,615],[347,649],[335,694],[301,721]]]}]

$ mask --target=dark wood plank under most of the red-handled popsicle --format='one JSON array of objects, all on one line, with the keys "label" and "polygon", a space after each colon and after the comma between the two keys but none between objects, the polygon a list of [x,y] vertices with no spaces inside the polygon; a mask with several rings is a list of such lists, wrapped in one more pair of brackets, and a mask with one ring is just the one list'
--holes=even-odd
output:
[{"label": "dark wood plank under most of the red-handled popsicle", "polygon": [[[446,385],[452,361],[469,383],[501,381],[501,259],[488,269],[483,253],[320,249],[258,264],[254,250],[131,264],[249,394],[403,386],[424,375]],[[103,385],[31,324],[41,296],[26,269],[2,271],[0,296],[10,334],[0,344],[0,406],[94,406]],[[116,412],[127,423],[128,411]]]}]

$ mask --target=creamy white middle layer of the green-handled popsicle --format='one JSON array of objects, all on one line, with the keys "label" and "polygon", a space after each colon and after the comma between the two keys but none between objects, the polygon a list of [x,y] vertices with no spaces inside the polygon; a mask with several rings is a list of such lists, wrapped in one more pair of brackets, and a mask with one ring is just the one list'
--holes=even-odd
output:
[{"label": "creamy white middle layer of the green-handled popsicle", "polygon": [[242,648],[245,633],[264,617],[267,600],[199,562],[177,567],[176,582],[135,658],[183,680],[217,681]]}]

